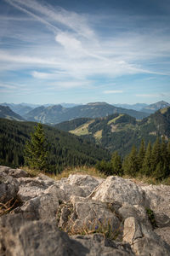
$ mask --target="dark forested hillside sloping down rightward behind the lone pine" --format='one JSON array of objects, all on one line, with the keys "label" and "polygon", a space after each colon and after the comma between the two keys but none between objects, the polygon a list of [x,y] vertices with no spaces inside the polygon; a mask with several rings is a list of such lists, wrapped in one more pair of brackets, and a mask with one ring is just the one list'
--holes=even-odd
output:
[{"label": "dark forested hillside sloping down rightward behind the lone pine", "polygon": [[[24,165],[24,148],[36,123],[0,119],[0,165]],[[51,172],[65,166],[94,165],[109,160],[110,154],[81,137],[43,125],[48,143],[48,165]]]}]

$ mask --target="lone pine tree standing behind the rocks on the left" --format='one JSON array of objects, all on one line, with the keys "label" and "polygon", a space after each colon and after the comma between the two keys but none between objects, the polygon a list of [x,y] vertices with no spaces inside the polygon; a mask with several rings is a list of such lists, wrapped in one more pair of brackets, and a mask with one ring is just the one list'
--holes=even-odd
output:
[{"label": "lone pine tree standing behind the rocks on the left", "polygon": [[26,143],[25,165],[45,171],[48,168],[46,148],[45,134],[42,125],[38,124],[35,126],[35,131],[31,133],[31,141]]}]

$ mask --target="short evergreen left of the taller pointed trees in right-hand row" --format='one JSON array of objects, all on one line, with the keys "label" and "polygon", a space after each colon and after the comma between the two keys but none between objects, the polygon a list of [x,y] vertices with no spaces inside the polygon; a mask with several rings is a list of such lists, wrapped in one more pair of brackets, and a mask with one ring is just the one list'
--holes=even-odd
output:
[{"label": "short evergreen left of the taller pointed trees in right-hand row", "polygon": [[115,151],[111,157],[111,175],[122,176],[122,160],[121,156]]}]

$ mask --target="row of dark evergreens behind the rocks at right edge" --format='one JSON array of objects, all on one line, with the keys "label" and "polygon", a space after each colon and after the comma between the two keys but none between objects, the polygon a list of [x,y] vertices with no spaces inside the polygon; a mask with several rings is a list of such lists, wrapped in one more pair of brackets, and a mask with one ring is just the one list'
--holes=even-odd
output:
[{"label": "row of dark evergreens behind the rocks at right edge", "polygon": [[122,160],[115,151],[111,161],[99,161],[96,168],[106,175],[123,174],[131,177],[146,176],[162,180],[170,175],[170,140],[165,137],[157,137],[156,142],[147,145],[141,141],[139,150],[133,145],[130,153]]}]

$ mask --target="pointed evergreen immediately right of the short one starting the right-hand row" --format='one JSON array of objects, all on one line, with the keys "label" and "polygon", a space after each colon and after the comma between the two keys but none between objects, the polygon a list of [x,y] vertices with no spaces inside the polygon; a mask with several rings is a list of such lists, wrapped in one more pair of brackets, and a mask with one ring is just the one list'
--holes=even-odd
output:
[{"label": "pointed evergreen immediately right of the short one starting the right-hand row", "polygon": [[135,177],[139,172],[138,152],[134,145],[130,154],[127,155],[123,162],[123,171],[132,177]]}]

